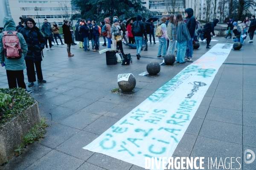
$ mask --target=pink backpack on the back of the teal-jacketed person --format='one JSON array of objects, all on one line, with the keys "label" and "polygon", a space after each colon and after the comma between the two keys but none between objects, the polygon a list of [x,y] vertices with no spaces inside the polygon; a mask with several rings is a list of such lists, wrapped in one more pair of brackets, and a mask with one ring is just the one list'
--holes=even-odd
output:
[{"label": "pink backpack on the back of the teal-jacketed person", "polygon": [[[7,34],[12,32],[12,34]],[[22,50],[17,31],[3,31],[3,53],[7,59],[20,59]]]}]

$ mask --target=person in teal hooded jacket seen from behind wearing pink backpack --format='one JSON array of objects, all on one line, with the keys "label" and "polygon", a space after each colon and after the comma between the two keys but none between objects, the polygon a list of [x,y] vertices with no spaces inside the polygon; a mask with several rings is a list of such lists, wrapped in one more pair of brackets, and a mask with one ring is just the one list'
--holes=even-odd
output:
[{"label": "person in teal hooded jacket seen from behind wearing pink backpack", "polygon": [[[25,88],[23,70],[26,69],[24,56],[28,47],[22,34],[16,32],[12,17],[3,18],[4,31],[0,34],[0,66],[5,66],[9,88]],[[26,90],[31,93],[31,90]]]}]

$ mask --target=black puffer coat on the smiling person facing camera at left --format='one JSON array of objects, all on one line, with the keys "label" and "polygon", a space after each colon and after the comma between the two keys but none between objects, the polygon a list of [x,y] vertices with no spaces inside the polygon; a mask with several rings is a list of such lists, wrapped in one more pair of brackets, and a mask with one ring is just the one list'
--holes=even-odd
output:
[{"label": "black puffer coat on the smiling person facing camera at left", "polygon": [[24,26],[24,28],[20,30],[20,34],[23,35],[28,45],[28,52],[25,59],[34,62],[42,61],[42,50],[46,42],[40,29],[36,26],[33,28]]}]

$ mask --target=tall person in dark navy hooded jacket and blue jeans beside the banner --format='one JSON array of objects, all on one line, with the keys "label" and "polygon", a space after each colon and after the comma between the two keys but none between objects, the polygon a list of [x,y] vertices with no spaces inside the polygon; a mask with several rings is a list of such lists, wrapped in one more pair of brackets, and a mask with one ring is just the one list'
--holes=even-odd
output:
[{"label": "tall person in dark navy hooded jacket and blue jeans beside the banner", "polygon": [[185,10],[186,25],[189,29],[191,40],[187,42],[186,57],[185,60],[192,61],[193,57],[193,40],[195,37],[196,21],[194,17],[194,11],[192,8],[186,8]]}]

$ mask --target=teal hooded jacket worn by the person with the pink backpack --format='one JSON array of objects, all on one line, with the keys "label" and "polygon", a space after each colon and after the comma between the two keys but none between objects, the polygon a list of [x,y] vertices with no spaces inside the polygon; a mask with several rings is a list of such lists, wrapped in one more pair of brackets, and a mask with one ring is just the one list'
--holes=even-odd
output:
[{"label": "teal hooded jacket worn by the person with the pink backpack", "polygon": [[[12,17],[4,17],[3,18],[3,29],[5,31],[15,31],[16,30],[15,22],[12,19]],[[8,34],[12,34],[12,33],[9,32]],[[22,36],[22,34],[17,33],[16,35],[19,37],[20,47],[21,47],[23,53],[21,54],[20,59],[7,59],[3,53],[3,33],[0,33],[0,63],[5,63],[6,70],[18,71],[18,70],[26,69],[24,57],[26,56],[28,47],[27,47],[26,41],[25,41],[24,37]]]}]

